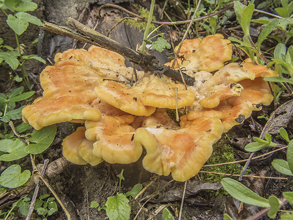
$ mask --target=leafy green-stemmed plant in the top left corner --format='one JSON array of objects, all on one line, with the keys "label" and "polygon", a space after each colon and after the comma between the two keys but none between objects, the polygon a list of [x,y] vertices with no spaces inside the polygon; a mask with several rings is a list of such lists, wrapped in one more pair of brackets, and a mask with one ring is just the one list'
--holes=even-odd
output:
[{"label": "leafy green-stemmed plant in the top left corner", "polygon": [[[29,23],[34,25],[42,24],[41,20],[35,16],[27,13],[27,11],[34,11],[37,8],[37,4],[32,0],[0,0],[0,8],[2,12],[7,16],[7,24],[15,33],[15,39],[18,51],[9,46],[2,45],[3,39],[0,39],[0,64],[4,61],[12,70],[15,70],[18,66],[21,67],[23,79],[28,88],[31,89],[29,77],[24,63],[29,59],[38,60],[44,64],[46,61],[37,55],[22,55],[18,36],[23,34]],[[10,10],[13,14],[7,14],[5,9]]]}]

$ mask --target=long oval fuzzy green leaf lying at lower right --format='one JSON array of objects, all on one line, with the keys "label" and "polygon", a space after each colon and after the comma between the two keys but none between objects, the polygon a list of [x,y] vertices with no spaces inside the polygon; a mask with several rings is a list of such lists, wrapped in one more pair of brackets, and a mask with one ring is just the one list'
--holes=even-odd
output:
[{"label": "long oval fuzzy green leaf lying at lower right", "polygon": [[260,197],[243,184],[229,178],[224,178],[221,182],[224,189],[235,199],[238,199],[239,201],[250,205],[260,206],[264,208],[269,207],[267,199]]}]

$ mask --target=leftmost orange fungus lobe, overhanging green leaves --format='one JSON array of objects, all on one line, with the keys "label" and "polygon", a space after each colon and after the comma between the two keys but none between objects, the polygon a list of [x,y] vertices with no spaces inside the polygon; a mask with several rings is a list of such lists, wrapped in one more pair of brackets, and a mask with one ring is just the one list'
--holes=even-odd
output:
[{"label": "leftmost orange fungus lobe, overhanging green leaves", "polygon": [[36,101],[22,110],[23,121],[36,130],[65,121],[84,122],[101,118],[98,110],[92,109],[79,97],[65,96],[55,100],[38,98]]}]

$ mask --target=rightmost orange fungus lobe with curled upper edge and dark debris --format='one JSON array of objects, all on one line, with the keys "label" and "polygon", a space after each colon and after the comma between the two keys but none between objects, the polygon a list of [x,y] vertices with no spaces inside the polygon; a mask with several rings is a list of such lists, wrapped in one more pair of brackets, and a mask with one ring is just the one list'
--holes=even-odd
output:
[{"label": "rightmost orange fungus lobe with curled upper edge and dark debris", "polygon": [[[205,72],[198,72],[196,77]],[[241,64],[231,63],[220,69],[208,80],[198,80],[193,87],[195,102],[191,110],[217,110],[224,114],[221,118],[224,132],[234,125],[241,124],[253,110],[261,110],[262,105],[269,105],[273,100],[268,82],[264,77],[278,73],[265,66],[255,65],[249,60]]]}]

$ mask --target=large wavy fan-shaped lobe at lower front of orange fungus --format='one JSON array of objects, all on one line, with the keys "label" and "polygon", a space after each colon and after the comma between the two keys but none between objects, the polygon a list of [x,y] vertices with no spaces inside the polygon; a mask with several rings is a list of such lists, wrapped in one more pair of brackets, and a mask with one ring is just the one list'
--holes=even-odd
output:
[{"label": "large wavy fan-shaped lobe at lower front of orange fungus", "polygon": [[198,173],[223,132],[222,122],[217,117],[181,119],[178,130],[138,128],[134,135],[134,143],[147,151],[143,158],[144,168],[165,176],[171,173],[176,181],[186,181]]}]

